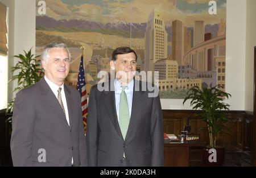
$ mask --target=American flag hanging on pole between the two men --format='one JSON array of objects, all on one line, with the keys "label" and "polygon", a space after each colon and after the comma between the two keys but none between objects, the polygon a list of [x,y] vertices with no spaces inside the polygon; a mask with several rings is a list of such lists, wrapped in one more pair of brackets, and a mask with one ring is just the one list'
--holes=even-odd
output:
[{"label": "American flag hanging on pole between the two men", "polygon": [[85,89],[85,77],[84,77],[84,59],[81,56],[79,74],[77,76],[77,87],[81,95],[81,107],[82,107],[82,120],[84,122],[84,131],[86,131],[86,117],[88,114],[88,106],[87,106],[87,96]]}]

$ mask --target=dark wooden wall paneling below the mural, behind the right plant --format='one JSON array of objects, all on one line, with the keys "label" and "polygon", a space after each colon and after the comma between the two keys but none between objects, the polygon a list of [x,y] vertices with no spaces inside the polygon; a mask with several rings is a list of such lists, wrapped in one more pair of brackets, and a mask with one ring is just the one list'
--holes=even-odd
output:
[{"label": "dark wooden wall paneling below the mural, behind the right plant", "polygon": [[[208,131],[200,130],[207,125],[197,114],[200,111],[195,110],[163,110],[164,132],[168,134],[179,135],[184,126],[191,125],[191,133],[199,134],[201,142],[209,143]],[[238,146],[243,148],[245,139],[245,111],[224,111],[232,119],[232,122],[226,124],[230,129],[230,135],[220,134],[218,144],[223,146]]]}]

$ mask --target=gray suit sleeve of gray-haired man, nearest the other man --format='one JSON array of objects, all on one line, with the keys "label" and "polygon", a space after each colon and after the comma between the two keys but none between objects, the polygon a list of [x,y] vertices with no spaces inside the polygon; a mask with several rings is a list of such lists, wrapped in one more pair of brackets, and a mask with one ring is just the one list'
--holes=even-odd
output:
[{"label": "gray suit sleeve of gray-haired man, nearest the other man", "polygon": [[[80,96],[78,97],[77,101],[81,101]],[[81,109],[81,102],[79,102],[79,154],[80,154],[80,163],[82,167],[88,166],[87,164],[87,155],[86,155],[86,138],[84,134],[84,123],[82,120],[82,109]]]}]

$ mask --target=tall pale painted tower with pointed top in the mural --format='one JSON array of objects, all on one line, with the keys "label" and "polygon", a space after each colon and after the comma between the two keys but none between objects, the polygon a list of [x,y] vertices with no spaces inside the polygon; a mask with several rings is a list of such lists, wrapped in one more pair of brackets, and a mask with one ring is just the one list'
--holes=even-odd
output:
[{"label": "tall pale painted tower with pointed top in the mural", "polygon": [[153,10],[145,33],[144,70],[154,71],[154,63],[167,59],[167,32],[162,16]]}]

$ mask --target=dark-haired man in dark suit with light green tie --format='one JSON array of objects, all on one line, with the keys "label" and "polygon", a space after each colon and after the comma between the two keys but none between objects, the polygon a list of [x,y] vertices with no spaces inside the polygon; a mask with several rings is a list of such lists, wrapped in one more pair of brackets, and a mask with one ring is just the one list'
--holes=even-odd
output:
[{"label": "dark-haired man in dark suit with light green tie", "polygon": [[137,55],[133,49],[115,49],[110,67],[115,71],[114,81],[90,89],[86,130],[88,165],[163,166],[159,95],[150,97],[152,93],[145,87],[148,84],[134,80]]}]

